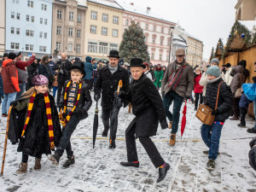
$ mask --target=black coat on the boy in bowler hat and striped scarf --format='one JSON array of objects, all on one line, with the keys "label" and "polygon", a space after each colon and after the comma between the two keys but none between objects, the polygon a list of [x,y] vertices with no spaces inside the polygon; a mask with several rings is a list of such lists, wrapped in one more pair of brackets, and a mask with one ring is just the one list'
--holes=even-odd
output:
[{"label": "black coat on the boy in bowler hat and striped scarf", "polygon": [[[60,100],[60,104],[63,103],[64,104],[64,95],[65,95],[65,90],[66,90],[66,87],[67,87],[67,83],[69,81],[67,80],[64,84],[64,89],[62,91],[62,94],[61,94],[61,100]],[[67,89],[67,97],[68,97],[68,94],[70,92],[70,90],[72,89],[72,84],[69,85],[68,89]],[[74,100],[74,103],[77,102],[77,98],[78,98],[78,92],[79,92],[79,84],[77,84],[77,89],[76,89],[76,93],[75,93],[75,100]],[[85,111],[84,113],[78,113],[78,117],[79,119],[85,119],[88,117],[88,110],[90,109],[90,106],[91,106],[91,97],[90,97],[90,91],[88,89],[88,85],[85,84],[83,81],[82,81],[82,87],[81,87],[81,95],[80,95],[80,99],[79,99],[79,103],[77,105],[77,107],[75,108],[74,112],[73,113],[78,113],[79,111],[79,108],[83,108]],[[63,114],[64,117],[67,116],[67,113]]]}]

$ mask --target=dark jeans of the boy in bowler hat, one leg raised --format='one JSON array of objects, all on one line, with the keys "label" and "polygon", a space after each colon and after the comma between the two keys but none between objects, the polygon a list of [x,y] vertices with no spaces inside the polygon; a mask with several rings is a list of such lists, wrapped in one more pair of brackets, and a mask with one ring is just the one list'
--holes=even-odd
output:
[{"label": "dark jeans of the boy in bowler hat, one leg raised", "polygon": [[67,157],[73,156],[73,150],[71,148],[70,137],[73,134],[73,131],[75,131],[78,124],[79,124],[79,117],[76,114],[73,114],[71,116],[71,118],[69,119],[65,128],[63,127],[61,141],[55,151],[55,153],[59,154],[60,157],[64,153],[65,149],[67,152]]}]

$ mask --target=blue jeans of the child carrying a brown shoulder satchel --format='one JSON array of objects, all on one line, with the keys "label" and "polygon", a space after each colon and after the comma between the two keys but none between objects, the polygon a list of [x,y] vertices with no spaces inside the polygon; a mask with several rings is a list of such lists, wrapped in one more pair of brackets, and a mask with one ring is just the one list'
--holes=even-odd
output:
[{"label": "blue jeans of the child carrying a brown shoulder satchel", "polygon": [[[208,159],[216,160],[218,156],[219,139],[223,125],[214,122],[211,125],[201,125],[201,138],[209,148]],[[212,131],[212,133],[211,133]]]}]

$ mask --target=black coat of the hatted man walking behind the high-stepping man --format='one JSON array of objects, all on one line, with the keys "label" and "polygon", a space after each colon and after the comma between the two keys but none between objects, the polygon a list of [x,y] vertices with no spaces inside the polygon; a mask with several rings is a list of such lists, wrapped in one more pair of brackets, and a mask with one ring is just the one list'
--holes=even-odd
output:
[{"label": "black coat of the hatted man walking behind the high-stepping man", "polygon": [[102,67],[98,73],[94,92],[101,96],[102,92],[102,107],[113,108],[114,91],[118,89],[119,80],[123,81],[121,90],[128,92],[129,90],[129,76],[124,67],[118,67],[115,73],[111,73],[108,66]]}]

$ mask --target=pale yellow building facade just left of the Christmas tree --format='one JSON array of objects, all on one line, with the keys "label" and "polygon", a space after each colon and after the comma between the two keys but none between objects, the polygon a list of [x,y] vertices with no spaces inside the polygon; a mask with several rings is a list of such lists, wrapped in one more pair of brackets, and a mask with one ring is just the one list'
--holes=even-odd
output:
[{"label": "pale yellow building facade just left of the Christmas tree", "polygon": [[123,33],[123,9],[113,0],[87,1],[84,56],[108,59],[109,50],[119,49]]}]

